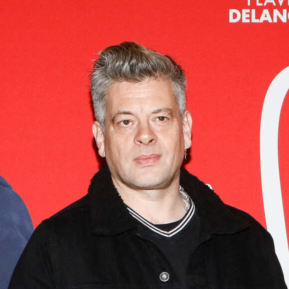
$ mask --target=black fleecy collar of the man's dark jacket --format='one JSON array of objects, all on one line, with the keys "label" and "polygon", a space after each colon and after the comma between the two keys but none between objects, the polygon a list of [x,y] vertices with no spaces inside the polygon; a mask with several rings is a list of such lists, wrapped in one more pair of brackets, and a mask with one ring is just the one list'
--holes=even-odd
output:
[{"label": "black fleecy collar of the man's dark jacket", "polygon": [[[236,214],[237,209],[224,204],[217,194],[184,168],[181,168],[180,185],[192,198],[209,233],[232,234],[249,227],[245,213]],[[107,165],[92,178],[88,199],[94,234],[118,235],[139,225],[114,187]]]}]

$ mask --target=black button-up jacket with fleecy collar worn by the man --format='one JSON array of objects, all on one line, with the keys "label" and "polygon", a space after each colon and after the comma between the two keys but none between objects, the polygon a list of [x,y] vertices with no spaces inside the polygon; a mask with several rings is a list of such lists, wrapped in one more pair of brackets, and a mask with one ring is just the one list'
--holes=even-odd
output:
[{"label": "black button-up jacket with fleecy collar worn by the man", "polygon": [[[287,288],[273,240],[256,220],[225,205],[184,169],[180,183],[201,220],[199,244],[186,269],[188,289]],[[141,238],[138,226],[105,166],[86,196],[38,226],[9,289],[180,288],[161,248]],[[167,282],[161,272],[170,274]]]}]

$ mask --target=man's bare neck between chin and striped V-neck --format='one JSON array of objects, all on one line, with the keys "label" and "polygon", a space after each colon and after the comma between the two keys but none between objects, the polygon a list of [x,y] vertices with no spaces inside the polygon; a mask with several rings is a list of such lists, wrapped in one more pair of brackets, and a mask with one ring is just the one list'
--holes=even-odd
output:
[{"label": "man's bare neck between chin and striped V-neck", "polygon": [[178,182],[163,189],[132,189],[113,182],[124,203],[153,224],[172,223],[185,214]]}]

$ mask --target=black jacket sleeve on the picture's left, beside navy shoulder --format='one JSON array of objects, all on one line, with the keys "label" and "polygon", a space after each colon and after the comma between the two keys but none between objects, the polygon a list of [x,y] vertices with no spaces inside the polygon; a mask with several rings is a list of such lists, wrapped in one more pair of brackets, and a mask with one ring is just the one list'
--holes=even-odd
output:
[{"label": "black jacket sleeve on the picture's left, beside navy shoulder", "polygon": [[50,231],[45,221],[36,228],[14,269],[8,289],[57,288]]}]

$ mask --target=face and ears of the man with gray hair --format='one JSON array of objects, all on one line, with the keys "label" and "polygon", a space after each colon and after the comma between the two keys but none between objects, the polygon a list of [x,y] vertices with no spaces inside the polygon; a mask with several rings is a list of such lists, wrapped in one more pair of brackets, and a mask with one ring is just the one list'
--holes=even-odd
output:
[{"label": "face and ears of the man with gray hair", "polygon": [[191,145],[191,118],[180,117],[171,82],[116,82],[107,93],[105,130],[93,132],[115,183],[160,189],[178,181],[184,147]]}]

